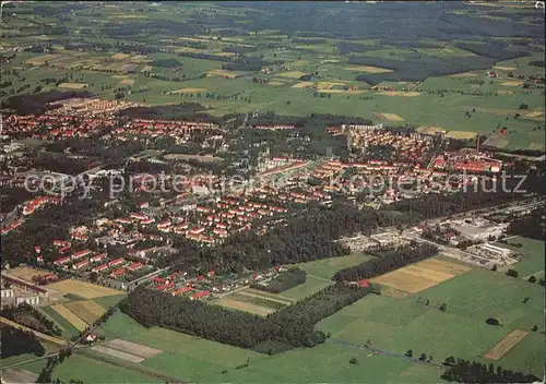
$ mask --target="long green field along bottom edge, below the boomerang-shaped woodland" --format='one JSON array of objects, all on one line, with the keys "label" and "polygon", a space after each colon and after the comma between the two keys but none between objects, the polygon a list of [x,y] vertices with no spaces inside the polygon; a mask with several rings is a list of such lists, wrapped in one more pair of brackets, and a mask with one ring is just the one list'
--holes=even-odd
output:
[{"label": "long green field along bottom edge, below the boomerang-shaped woodland", "polygon": [[[296,349],[269,357],[245,349],[200,339],[158,327],[144,328],[127,315],[117,312],[106,325],[98,331],[110,338],[122,338],[150,347],[163,349],[139,365],[152,372],[161,371],[166,375],[206,383],[278,383],[278,382],[336,382],[343,377],[344,383],[361,382],[365,374],[373,382],[439,382],[441,370],[419,365],[397,359],[375,356],[365,351],[337,345],[321,345],[310,349]],[[111,364],[98,361],[94,351],[85,356],[72,356],[56,371],[61,380],[67,377],[83,380],[86,374],[93,382],[105,382],[100,369],[109,369]],[[348,360],[356,357],[357,365]],[[115,358],[107,358],[111,363],[121,363]],[[248,367],[240,367],[248,363]],[[86,364],[85,368],[82,364]],[[155,382],[147,380],[142,373],[131,372],[131,364],[123,362],[124,368],[114,367],[114,377],[121,382]],[[26,367],[24,367],[26,368]],[[136,368],[133,368],[136,369]],[[108,380],[107,382],[110,382]]]}]

